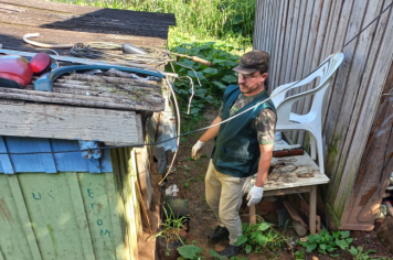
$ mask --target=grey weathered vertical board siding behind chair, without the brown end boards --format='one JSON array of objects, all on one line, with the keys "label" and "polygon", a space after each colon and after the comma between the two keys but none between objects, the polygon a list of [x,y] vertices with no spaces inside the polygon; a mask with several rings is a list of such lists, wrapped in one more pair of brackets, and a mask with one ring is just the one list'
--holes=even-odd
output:
[{"label": "grey weathered vertical board siding behind chair, without the brown end boards", "polygon": [[[301,79],[339,51],[391,1],[257,0],[254,48],[270,53],[269,86]],[[323,109],[327,201],[338,227],[392,64],[393,14],[387,10],[341,52],[344,62],[327,91]],[[312,86],[308,86],[312,87]],[[311,98],[294,106],[306,113]],[[304,132],[291,132],[304,143]]]}]

